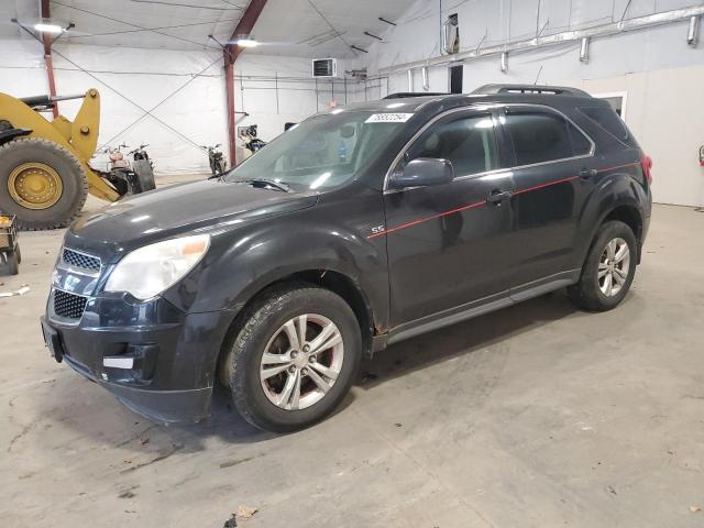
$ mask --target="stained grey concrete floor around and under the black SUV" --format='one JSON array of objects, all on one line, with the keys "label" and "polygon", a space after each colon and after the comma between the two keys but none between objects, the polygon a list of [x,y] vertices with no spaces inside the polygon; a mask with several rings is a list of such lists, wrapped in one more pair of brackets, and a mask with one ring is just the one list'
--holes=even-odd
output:
[{"label": "stained grey concrete floor around and under the black SUV", "polygon": [[[538,298],[364,364],[312,429],[161,427],[54,363],[38,327],[62,233],[0,290],[3,527],[704,526],[704,213],[656,207],[622,307]],[[694,512],[692,512],[692,509]]]}]

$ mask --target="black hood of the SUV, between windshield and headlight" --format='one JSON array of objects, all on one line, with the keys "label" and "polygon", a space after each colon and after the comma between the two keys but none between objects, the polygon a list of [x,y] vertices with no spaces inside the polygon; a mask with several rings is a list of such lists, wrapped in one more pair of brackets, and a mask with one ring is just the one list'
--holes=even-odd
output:
[{"label": "black hood of the SUV, between windshield and headlight", "polygon": [[316,204],[315,193],[283,193],[209,179],[120,200],[80,218],[66,245],[99,256],[122,253],[196,229],[229,228]]}]

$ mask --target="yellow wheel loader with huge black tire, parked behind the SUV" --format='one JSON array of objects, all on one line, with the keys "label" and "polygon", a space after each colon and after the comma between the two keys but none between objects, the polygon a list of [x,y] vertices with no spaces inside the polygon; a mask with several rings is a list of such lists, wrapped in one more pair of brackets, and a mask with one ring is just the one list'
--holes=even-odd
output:
[{"label": "yellow wheel loader with huge black tire, parked behind the SUV", "polygon": [[[84,102],[73,122],[63,116],[47,121],[38,113],[56,101],[79,98]],[[140,166],[148,174],[89,166],[99,125],[100,95],[95,88],[68,97],[16,99],[0,94],[0,212],[15,216],[21,229],[62,228],[78,216],[88,193],[116,201],[154,188],[151,166]]]}]

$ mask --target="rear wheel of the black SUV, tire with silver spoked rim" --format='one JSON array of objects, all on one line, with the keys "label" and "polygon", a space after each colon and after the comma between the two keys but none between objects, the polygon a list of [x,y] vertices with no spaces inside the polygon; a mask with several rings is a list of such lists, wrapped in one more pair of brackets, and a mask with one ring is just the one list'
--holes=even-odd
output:
[{"label": "rear wheel of the black SUV, tire with silver spoked rim", "polygon": [[[608,253],[608,244],[613,241],[617,241],[614,246],[617,250],[613,255],[615,258],[610,258]],[[628,251],[618,261],[619,252],[623,251],[624,245]],[[604,260],[607,262],[604,263]],[[600,228],[586,255],[580,280],[568,288],[570,298],[576,306],[588,311],[607,311],[616,308],[630,289],[636,274],[637,261],[638,243],[632,230],[626,223],[617,220],[605,222]],[[608,284],[612,285],[610,289]]]}]

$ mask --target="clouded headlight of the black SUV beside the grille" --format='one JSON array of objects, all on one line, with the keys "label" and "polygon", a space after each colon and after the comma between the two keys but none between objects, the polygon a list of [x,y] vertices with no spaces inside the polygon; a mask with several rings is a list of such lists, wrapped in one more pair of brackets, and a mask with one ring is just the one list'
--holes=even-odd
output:
[{"label": "clouded headlight of the black SUV beside the grille", "polygon": [[134,250],[112,271],[106,292],[129,292],[138,299],[154,297],[193,270],[209,245],[210,235],[196,234]]}]

